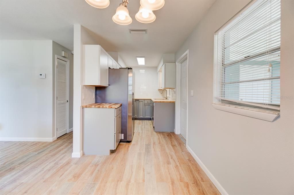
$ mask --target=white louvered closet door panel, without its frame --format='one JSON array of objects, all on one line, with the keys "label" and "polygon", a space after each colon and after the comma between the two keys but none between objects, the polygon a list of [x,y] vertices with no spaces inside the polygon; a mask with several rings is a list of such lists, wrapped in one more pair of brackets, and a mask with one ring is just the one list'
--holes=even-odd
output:
[{"label": "white louvered closet door panel, without its frame", "polygon": [[57,59],[56,74],[56,137],[60,137],[67,133],[67,62]]}]

